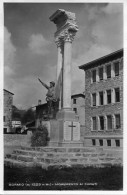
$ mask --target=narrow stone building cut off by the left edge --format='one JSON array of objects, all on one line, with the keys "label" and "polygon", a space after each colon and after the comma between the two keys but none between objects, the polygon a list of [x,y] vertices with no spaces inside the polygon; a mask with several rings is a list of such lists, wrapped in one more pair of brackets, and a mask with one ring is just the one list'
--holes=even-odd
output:
[{"label": "narrow stone building cut off by the left edge", "polygon": [[4,133],[10,133],[12,131],[13,95],[13,93],[4,89]]}]

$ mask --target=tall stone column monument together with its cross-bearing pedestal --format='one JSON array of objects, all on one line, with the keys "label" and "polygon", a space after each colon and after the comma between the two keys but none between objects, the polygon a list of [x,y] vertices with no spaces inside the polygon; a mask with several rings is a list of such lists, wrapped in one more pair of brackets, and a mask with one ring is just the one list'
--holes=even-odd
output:
[{"label": "tall stone column monument together with its cross-bearing pedestal", "polygon": [[[83,145],[80,141],[80,123],[71,108],[72,42],[78,31],[78,26],[76,24],[75,14],[62,9],[57,10],[50,17],[50,20],[54,22],[57,27],[55,43],[58,49],[58,62],[56,68],[55,98],[53,92],[53,99],[56,99],[56,102],[58,101],[59,105],[57,105],[59,109],[56,109],[56,111],[58,110],[56,118],[47,121],[50,133],[49,146],[78,147]],[[41,80],[40,82],[45,86]],[[48,87],[46,88],[48,89]],[[48,95],[48,93],[46,95]],[[53,102],[53,99],[47,102]],[[45,124],[45,122],[42,121],[42,124],[43,123]],[[39,121],[37,126],[38,125]]]}]

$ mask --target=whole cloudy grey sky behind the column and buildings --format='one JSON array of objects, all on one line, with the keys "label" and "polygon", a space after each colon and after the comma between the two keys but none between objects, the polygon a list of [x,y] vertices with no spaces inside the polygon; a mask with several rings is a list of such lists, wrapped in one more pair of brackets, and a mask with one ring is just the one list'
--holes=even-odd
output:
[{"label": "whole cloudy grey sky behind the column and buildings", "polygon": [[45,103],[46,84],[56,80],[56,26],[49,17],[64,9],[76,14],[79,31],[72,43],[72,94],[84,92],[78,67],[123,48],[122,3],[4,3],[4,88],[13,104]]}]

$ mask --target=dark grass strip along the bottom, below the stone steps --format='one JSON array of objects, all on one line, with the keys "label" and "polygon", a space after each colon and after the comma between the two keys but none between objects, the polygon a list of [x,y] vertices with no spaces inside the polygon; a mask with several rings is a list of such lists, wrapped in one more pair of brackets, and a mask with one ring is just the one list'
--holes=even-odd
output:
[{"label": "dark grass strip along the bottom, below the stone steps", "polygon": [[122,167],[4,168],[4,190],[122,190]]}]

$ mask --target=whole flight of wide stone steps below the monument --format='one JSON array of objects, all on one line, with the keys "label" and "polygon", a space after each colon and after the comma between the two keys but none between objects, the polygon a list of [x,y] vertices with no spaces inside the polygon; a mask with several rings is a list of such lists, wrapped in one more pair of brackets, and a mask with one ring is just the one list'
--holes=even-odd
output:
[{"label": "whole flight of wide stone steps below the monument", "polygon": [[25,147],[6,155],[5,165],[15,167],[41,166],[111,166],[122,165],[122,153],[93,147]]}]

